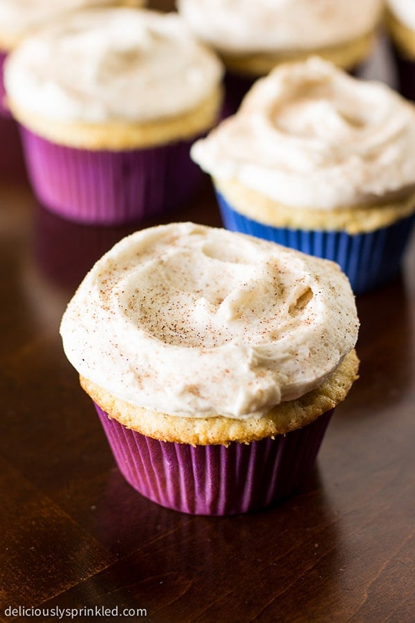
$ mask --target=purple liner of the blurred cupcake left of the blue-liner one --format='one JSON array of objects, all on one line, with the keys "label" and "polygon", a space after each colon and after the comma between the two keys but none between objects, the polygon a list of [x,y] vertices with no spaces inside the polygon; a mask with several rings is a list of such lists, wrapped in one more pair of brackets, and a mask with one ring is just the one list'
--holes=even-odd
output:
[{"label": "purple liner of the blurred cupcake left of the blue-liner one", "polygon": [[151,219],[186,201],[203,179],[193,141],[127,151],[57,145],[20,127],[30,182],[46,208],[84,224]]}]

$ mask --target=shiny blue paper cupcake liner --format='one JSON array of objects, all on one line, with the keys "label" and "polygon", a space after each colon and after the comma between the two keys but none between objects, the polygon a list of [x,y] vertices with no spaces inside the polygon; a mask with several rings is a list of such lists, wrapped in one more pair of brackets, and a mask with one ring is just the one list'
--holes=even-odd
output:
[{"label": "shiny blue paper cupcake liner", "polygon": [[349,278],[355,294],[385,285],[396,276],[415,222],[414,213],[376,231],[353,235],[344,231],[273,227],[241,215],[219,192],[216,196],[226,229],[272,240],[317,258],[337,262]]}]

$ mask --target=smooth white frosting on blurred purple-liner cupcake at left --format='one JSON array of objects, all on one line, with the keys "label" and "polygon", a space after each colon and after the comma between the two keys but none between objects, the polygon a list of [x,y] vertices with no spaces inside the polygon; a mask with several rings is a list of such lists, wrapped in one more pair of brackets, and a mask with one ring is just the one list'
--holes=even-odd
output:
[{"label": "smooth white frosting on blurred purple-liner cupcake at left", "polygon": [[73,13],[25,39],[6,62],[5,82],[28,114],[145,122],[198,107],[221,75],[178,15],[109,8]]}]

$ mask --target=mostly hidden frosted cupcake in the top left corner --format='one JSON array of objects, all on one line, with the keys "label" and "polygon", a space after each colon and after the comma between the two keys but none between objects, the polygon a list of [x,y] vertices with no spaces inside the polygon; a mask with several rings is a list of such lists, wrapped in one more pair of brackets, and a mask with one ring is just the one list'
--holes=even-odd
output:
[{"label": "mostly hidden frosted cupcake in the top left corner", "polygon": [[142,6],[145,0],[0,0],[0,114],[10,115],[3,84],[3,64],[21,39],[71,10],[93,6]]}]

